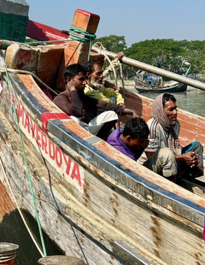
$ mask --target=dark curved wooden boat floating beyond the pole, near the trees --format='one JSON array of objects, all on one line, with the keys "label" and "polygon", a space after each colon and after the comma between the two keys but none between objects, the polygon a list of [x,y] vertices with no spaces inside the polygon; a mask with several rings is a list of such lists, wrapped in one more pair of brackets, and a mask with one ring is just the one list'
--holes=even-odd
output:
[{"label": "dark curved wooden boat floating beyond the pole, near the trees", "polygon": [[139,75],[134,79],[134,82],[135,88],[139,93],[182,92],[187,90],[186,84],[181,84],[176,81],[158,82],[158,80],[145,82],[143,77],[139,78]]}]

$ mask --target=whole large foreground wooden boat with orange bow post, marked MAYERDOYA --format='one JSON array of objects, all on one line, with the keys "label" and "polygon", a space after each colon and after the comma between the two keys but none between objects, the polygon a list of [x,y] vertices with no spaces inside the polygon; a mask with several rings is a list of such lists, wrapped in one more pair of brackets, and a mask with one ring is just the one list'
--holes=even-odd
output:
[{"label": "whole large foreground wooden boat with orange bow post, marked MAYERDOYA", "polygon": [[[99,16],[78,9],[73,26],[95,33],[98,21]],[[53,34],[54,29],[33,24],[40,32],[39,40],[56,34],[63,39],[60,31]],[[5,60],[8,68],[18,65],[18,69],[35,71],[47,85],[63,89],[65,65],[85,62],[88,51],[89,42],[12,44],[1,50],[0,63],[3,68]],[[9,79],[13,100],[4,72],[0,97],[3,168],[19,206],[35,216],[15,109],[40,222],[61,250],[88,264],[204,263],[203,196],[160,177],[91,135],[49,100],[31,74],[9,72]],[[150,118],[152,100],[129,90],[121,92],[125,104],[139,117]],[[183,110],[178,118],[181,144],[199,140],[205,146],[205,118]],[[11,195],[3,168],[0,184]]]}]

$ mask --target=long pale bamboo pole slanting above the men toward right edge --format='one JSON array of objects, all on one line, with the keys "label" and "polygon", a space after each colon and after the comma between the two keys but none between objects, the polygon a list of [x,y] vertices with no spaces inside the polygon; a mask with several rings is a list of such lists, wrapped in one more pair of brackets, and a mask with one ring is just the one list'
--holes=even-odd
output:
[{"label": "long pale bamboo pole slanting above the men toward right edge", "polygon": [[[114,52],[107,51],[107,50],[104,50],[104,49],[100,49],[100,48],[94,47],[94,46],[92,47],[92,50],[96,51],[99,54],[105,53],[105,54],[108,55],[108,57],[110,59],[114,59],[116,57],[116,55],[117,55]],[[164,69],[160,69],[158,67],[155,67],[155,66],[152,66],[152,65],[149,65],[149,64],[145,64],[145,63],[136,61],[134,59],[130,59],[130,58],[126,57],[126,56],[124,56],[121,61],[124,64],[139,68],[141,70],[152,72],[152,73],[161,75],[162,77],[166,77],[166,78],[169,78],[171,80],[177,81],[179,83],[187,84],[189,86],[192,86],[192,87],[195,87],[195,88],[198,88],[200,90],[205,91],[205,83],[202,83],[200,81],[197,81],[197,80],[194,80],[194,79],[191,79],[191,78],[187,78],[187,77],[185,77],[183,75],[180,75],[180,74],[177,74],[177,73],[172,73],[170,71],[167,71],[167,70],[164,70]]]}]

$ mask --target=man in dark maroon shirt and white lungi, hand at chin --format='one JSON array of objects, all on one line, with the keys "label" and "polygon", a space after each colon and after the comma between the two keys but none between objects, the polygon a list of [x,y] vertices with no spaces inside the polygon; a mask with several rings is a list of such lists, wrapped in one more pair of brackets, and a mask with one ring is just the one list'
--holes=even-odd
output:
[{"label": "man in dark maroon shirt and white lungi, hand at chin", "polygon": [[[110,129],[118,119],[117,114],[135,115],[134,111],[125,106],[104,103],[85,96],[86,70],[84,66],[69,65],[65,69],[64,79],[66,90],[61,92],[53,102],[78,124],[89,130],[91,134],[107,140]],[[97,108],[103,109],[104,112],[95,117]],[[87,109],[93,111],[92,119],[86,116],[85,110]],[[84,117],[85,122],[81,121],[83,116],[86,117]]]}]

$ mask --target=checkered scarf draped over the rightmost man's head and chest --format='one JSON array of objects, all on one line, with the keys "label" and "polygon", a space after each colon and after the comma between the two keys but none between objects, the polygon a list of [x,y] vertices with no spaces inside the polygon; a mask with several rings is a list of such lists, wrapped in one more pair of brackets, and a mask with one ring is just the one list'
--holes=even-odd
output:
[{"label": "checkered scarf draped over the rightmost man's head and chest", "polygon": [[175,124],[171,124],[165,110],[163,109],[163,94],[160,94],[154,100],[151,117],[157,120],[164,130],[169,132],[169,147],[172,148],[174,155],[181,155],[181,145],[179,143],[178,136],[174,131]]}]

